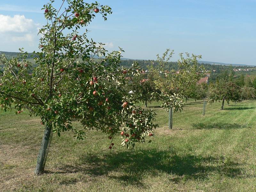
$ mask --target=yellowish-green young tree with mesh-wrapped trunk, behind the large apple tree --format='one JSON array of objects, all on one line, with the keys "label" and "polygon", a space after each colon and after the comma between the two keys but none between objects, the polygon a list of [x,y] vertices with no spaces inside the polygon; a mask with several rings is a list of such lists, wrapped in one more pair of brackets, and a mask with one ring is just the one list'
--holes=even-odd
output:
[{"label": "yellowish-green young tree with mesh-wrapped trunk, behind the large apple tree", "polygon": [[174,112],[183,110],[185,105],[183,97],[188,92],[191,86],[196,85],[204,73],[204,68],[198,66],[197,60],[201,56],[189,56],[186,53],[184,58],[183,53],[180,53],[178,60],[178,70],[167,70],[168,62],[172,57],[173,50],[169,49],[164,52],[162,57],[157,55],[158,64],[151,65],[150,72],[154,76],[154,83],[158,90],[161,91],[159,98],[162,101],[162,107],[169,111],[169,128],[172,129],[172,109]]}]

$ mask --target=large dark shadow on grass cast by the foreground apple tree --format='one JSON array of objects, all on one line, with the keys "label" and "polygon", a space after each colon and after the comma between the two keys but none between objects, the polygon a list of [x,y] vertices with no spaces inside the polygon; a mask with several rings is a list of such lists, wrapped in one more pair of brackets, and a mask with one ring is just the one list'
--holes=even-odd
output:
[{"label": "large dark shadow on grass cast by the foreground apple tree", "polygon": [[[64,165],[59,172],[46,173],[75,173],[89,174],[90,177],[107,176],[110,179],[126,182],[130,185],[143,187],[148,175],[158,177],[168,174],[170,180],[179,183],[184,180],[209,179],[212,174],[221,176],[241,176],[241,164],[212,156],[177,155],[173,149],[136,150],[114,153],[111,151],[103,156],[86,154],[80,156],[78,164]],[[110,175],[109,175],[110,173]]]}]

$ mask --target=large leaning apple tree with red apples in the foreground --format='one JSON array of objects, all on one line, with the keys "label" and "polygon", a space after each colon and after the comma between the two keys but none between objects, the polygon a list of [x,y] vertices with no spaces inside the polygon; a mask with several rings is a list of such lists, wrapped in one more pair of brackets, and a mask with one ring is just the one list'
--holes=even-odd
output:
[{"label": "large leaning apple tree with red apples in the foreground", "polygon": [[[64,3],[59,9],[52,6],[53,0],[44,5],[47,24],[39,30],[41,52],[34,52],[36,67],[22,50],[11,60],[0,57],[4,64],[2,109],[14,109],[17,114],[26,109],[39,116],[46,127],[36,174],[44,172],[52,132],[60,136],[71,131],[80,140],[92,129],[101,130],[108,135],[111,149],[115,136],[121,138],[122,146],[134,147],[154,136],[157,126],[153,123],[155,113],[136,106],[138,98],[126,91],[125,76],[138,76],[138,65],[124,72],[119,68],[122,49],[107,54],[104,44],[87,38],[86,26],[96,15],[107,20],[111,8],[83,0],[67,0],[68,6],[63,8]],[[73,120],[80,121],[84,129],[76,129]]]}]

